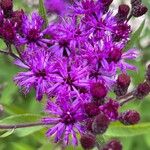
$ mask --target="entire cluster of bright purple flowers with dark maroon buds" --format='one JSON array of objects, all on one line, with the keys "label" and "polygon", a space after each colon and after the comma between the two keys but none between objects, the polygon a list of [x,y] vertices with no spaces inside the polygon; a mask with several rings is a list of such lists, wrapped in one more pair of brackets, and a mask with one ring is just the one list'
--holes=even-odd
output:
[{"label": "entire cluster of bright purple flowers with dark maroon buds", "polygon": [[[62,9],[62,1],[56,3]],[[129,14],[130,7],[122,4],[113,13],[111,3],[75,1],[68,5],[66,15],[44,28],[45,20],[38,13],[28,16],[22,10],[13,11],[11,0],[1,1],[0,36],[15,64],[24,68],[14,81],[25,94],[35,89],[38,101],[47,96],[45,112],[49,116],[42,122],[52,125],[46,135],[55,135],[55,142],[68,145],[71,136],[71,143],[77,145],[80,133],[81,145],[92,148],[95,136],[103,134],[111,122],[119,120],[130,125],[140,120],[136,111],[119,113],[119,108],[130,100],[122,99],[143,98],[150,92],[146,82],[125,97],[131,81],[127,70],[136,70],[127,60],[139,56],[136,48],[124,50],[131,35],[128,20],[135,16],[135,8]],[[50,11],[58,12],[55,8]],[[145,9],[138,16],[144,13]],[[12,44],[18,55],[12,53]],[[108,96],[109,92],[116,94],[115,100]],[[104,147],[107,149],[121,150],[122,146],[114,140]]]}]

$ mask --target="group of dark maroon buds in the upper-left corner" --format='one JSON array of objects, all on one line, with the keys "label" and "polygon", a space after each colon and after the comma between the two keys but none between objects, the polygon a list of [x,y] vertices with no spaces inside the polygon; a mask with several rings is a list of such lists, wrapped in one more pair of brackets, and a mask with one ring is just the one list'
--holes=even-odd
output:
[{"label": "group of dark maroon buds in the upper-left corner", "polygon": [[0,37],[6,43],[16,42],[16,34],[20,30],[23,19],[23,10],[13,10],[13,0],[0,1]]}]

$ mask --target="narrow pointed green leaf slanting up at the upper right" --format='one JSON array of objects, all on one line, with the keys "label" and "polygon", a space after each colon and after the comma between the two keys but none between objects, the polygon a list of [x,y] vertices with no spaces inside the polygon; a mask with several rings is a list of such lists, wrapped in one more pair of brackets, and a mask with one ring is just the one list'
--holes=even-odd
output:
[{"label": "narrow pointed green leaf slanting up at the upper right", "polygon": [[128,44],[125,47],[125,50],[128,50],[132,47],[134,47],[134,45],[138,42],[141,32],[144,28],[145,25],[145,20],[141,23],[140,27],[132,34],[130,41],[128,42]]}]

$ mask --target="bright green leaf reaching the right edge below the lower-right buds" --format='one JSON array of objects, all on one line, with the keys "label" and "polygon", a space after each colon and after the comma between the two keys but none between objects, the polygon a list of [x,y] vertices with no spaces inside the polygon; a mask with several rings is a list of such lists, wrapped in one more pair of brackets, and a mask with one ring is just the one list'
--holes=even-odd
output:
[{"label": "bright green leaf reaching the right edge below the lower-right buds", "polygon": [[140,123],[137,125],[125,126],[119,122],[112,123],[105,136],[110,137],[131,137],[150,132],[150,123]]}]

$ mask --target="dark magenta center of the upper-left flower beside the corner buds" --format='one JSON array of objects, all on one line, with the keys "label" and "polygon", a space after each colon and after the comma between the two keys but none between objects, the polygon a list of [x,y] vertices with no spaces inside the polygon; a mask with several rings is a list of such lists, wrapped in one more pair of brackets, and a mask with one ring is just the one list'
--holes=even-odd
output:
[{"label": "dark magenta center of the upper-left flower beside the corner buds", "polygon": [[35,42],[39,38],[38,30],[30,29],[27,38],[30,42]]}]

